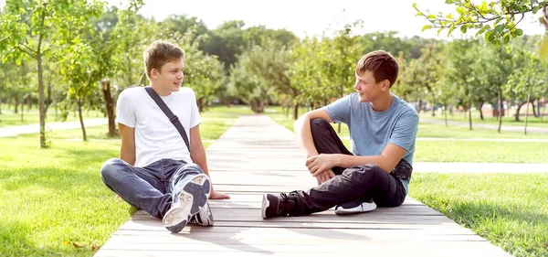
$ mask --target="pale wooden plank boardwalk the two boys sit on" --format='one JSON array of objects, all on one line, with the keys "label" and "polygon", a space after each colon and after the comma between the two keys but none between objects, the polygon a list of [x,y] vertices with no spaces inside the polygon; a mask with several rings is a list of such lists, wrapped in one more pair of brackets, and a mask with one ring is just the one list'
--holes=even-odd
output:
[{"label": "pale wooden plank boardwalk the two boys sit on", "polygon": [[179,234],[138,211],[96,253],[104,256],[511,256],[417,202],[340,217],[333,210],[262,220],[263,193],[315,186],[294,135],[264,115],[240,116],[207,148],[214,227]]}]

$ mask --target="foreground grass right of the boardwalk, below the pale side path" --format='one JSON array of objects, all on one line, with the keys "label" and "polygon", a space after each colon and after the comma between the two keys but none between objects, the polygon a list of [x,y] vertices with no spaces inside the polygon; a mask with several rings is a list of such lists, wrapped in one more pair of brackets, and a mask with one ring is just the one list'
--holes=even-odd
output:
[{"label": "foreground grass right of the boardwalk, below the pale side path", "polygon": [[517,257],[548,256],[548,174],[413,175],[410,196]]}]

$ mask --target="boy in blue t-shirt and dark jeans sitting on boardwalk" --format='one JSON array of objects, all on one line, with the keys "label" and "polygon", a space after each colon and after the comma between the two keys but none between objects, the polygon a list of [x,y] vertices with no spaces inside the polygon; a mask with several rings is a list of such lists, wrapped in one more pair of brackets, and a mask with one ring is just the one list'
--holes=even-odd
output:
[{"label": "boy in blue t-shirt and dark jeans sitting on boardwalk", "polygon": [[[336,206],[336,214],[400,206],[411,178],[418,115],[390,92],[398,64],[379,50],[358,61],[356,92],[307,112],[294,123],[318,187],[290,194],[265,194],[263,219],[300,216]],[[352,151],[330,123],[346,123]]]}]

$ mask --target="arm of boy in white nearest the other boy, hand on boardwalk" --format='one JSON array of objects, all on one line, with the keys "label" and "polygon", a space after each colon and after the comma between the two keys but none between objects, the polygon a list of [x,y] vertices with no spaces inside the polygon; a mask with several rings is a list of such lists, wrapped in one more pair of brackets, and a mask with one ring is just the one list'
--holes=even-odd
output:
[{"label": "arm of boy in white nearest the other boy, hand on boardwalk", "polygon": [[[205,156],[205,148],[204,144],[202,143],[202,136],[200,135],[200,125],[195,125],[190,129],[190,145],[190,158],[196,165],[202,168],[205,175],[207,175],[211,180],[211,176],[209,176],[209,170],[207,169],[207,157]],[[209,198],[228,199],[230,197],[227,194],[217,193],[213,188],[212,183],[211,194],[209,195]]]}]

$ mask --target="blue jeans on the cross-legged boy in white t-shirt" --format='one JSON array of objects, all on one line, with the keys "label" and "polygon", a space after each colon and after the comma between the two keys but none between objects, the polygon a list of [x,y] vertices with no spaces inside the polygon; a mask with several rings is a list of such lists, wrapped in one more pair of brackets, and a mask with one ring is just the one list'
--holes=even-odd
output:
[{"label": "blue jeans on the cross-legged boy in white t-shirt", "polygon": [[204,171],[182,160],[162,159],[148,166],[132,166],[111,158],[100,168],[102,181],[129,204],[162,219],[171,208],[175,183]]}]

